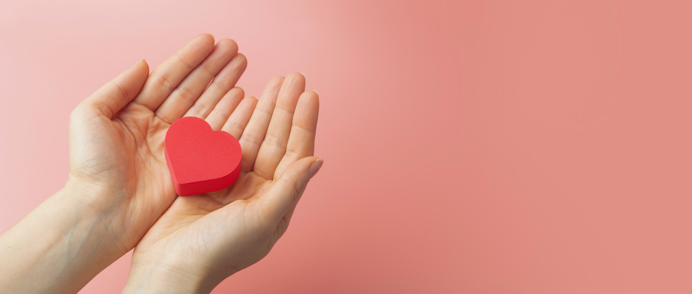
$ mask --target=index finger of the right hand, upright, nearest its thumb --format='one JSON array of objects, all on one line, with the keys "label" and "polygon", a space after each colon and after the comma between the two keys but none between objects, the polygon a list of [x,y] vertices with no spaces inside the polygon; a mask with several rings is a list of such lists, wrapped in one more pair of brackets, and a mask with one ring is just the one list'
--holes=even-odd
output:
[{"label": "index finger of the right hand, upright, nearest its thumb", "polygon": [[300,95],[298,105],[293,114],[291,136],[286,145],[286,152],[274,172],[279,176],[284,169],[307,156],[315,155],[315,134],[317,131],[317,118],[320,112],[320,99],[316,91],[306,91]]}]

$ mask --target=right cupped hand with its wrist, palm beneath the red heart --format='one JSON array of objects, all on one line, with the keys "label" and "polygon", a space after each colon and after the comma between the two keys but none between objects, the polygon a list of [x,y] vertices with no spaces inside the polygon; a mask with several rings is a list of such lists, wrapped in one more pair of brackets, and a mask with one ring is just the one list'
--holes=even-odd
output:
[{"label": "right cupped hand with its wrist, palm beneath the red heart", "polygon": [[233,111],[221,129],[242,147],[237,181],[219,192],[178,197],[136,246],[125,292],[161,291],[156,283],[208,292],[271,250],[323,162],[313,156],[318,94],[304,87],[300,73],[275,77],[254,110]]}]

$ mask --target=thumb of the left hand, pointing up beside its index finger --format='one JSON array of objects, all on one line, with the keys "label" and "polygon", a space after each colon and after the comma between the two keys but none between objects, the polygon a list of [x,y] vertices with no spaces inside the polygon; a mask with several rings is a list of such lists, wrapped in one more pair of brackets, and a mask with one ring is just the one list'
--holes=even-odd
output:
[{"label": "thumb of the left hand, pointing up beside its index finger", "polygon": [[96,90],[82,105],[112,118],[139,93],[148,75],[149,65],[142,59]]}]

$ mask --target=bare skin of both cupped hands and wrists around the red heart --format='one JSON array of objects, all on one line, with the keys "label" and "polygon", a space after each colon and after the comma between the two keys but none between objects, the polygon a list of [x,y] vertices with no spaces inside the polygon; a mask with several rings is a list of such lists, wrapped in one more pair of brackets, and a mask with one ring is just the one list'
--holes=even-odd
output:
[{"label": "bare skin of both cupped hands and wrists around the red heart", "polygon": [[[71,113],[68,180],[0,235],[0,293],[76,293],[132,248],[123,293],[209,293],[268,254],[323,163],[313,156],[318,94],[291,73],[243,98],[237,50],[199,35]],[[242,172],[226,190],[176,195],[163,143],[183,116],[239,138]]]}]

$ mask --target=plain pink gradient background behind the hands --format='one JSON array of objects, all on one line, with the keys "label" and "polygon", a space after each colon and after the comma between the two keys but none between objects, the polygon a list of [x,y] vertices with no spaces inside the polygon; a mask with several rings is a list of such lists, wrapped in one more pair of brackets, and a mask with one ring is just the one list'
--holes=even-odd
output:
[{"label": "plain pink gradient background behind the hands", "polygon": [[215,293],[692,292],[689,1],[94,2],[2,3],[0,230],[64,183],[78,102],[212,33],[247,95],[307,75],[326,160]]}]

